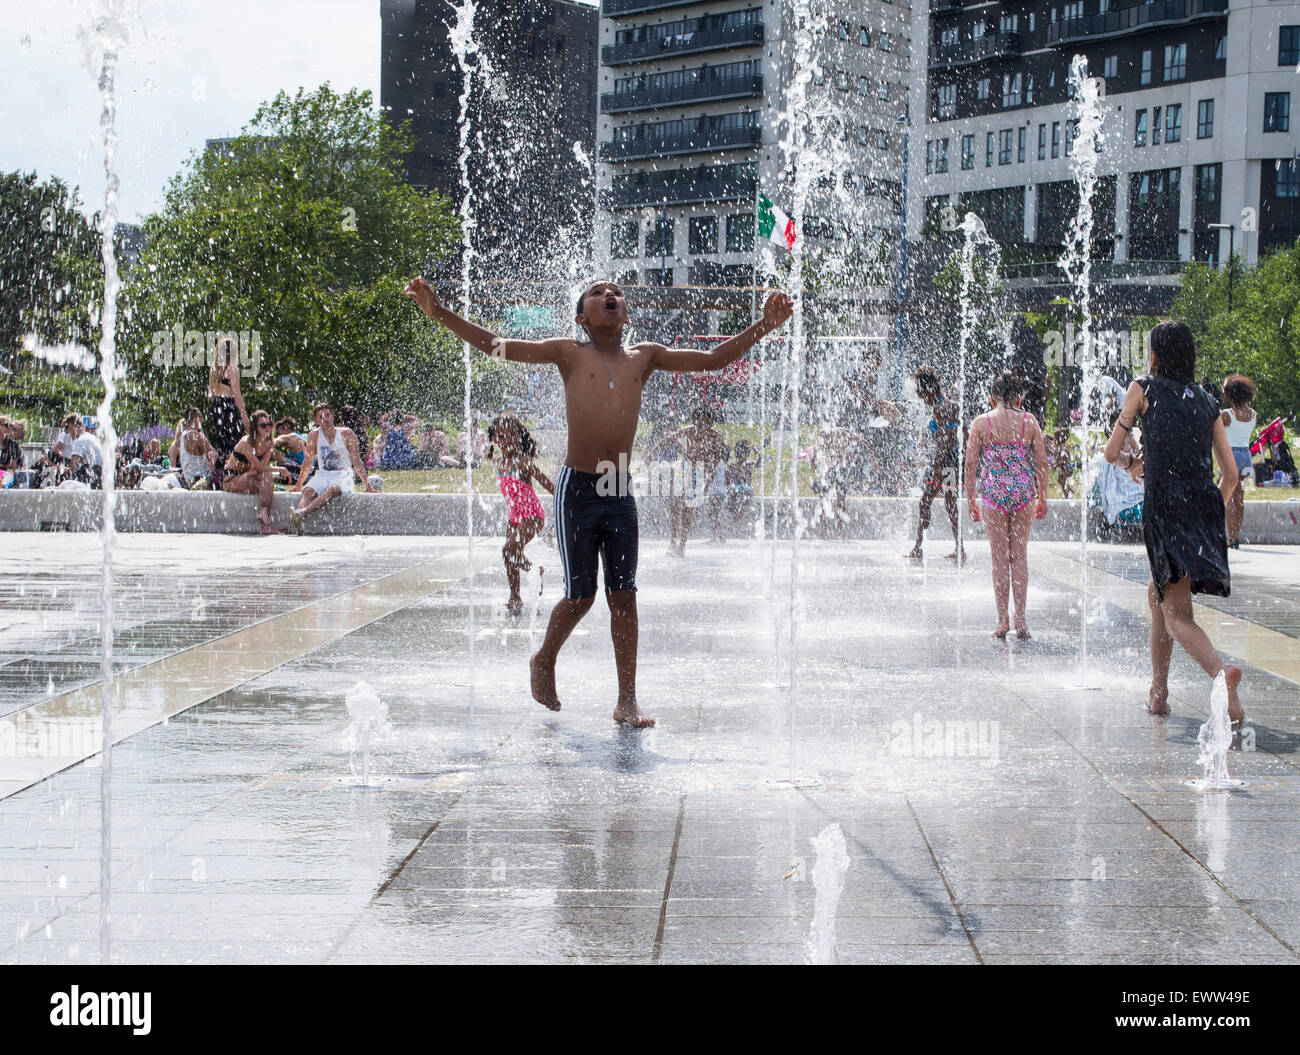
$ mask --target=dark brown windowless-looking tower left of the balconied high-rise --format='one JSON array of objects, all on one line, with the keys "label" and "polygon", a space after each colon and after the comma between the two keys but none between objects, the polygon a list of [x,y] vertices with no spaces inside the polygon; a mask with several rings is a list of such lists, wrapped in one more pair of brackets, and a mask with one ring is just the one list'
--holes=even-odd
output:
[{"label": "dark brown windowless-looking tower left of the balconied high-rise", "polygon": [[[446,0],[381,0],[380,101],[411,121],[408,179],[459,205],[460,95]],[[478,0],[471,61],[473,248],[484,272],[528,277],[549,236],[590,236],[595,149],[595,8],[568,0]]]}]

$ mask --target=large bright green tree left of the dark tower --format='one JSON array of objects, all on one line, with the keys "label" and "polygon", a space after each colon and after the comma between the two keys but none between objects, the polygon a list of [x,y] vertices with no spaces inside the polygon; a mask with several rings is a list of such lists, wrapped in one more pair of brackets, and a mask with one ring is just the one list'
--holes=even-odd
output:
[{"label": "large bright green tree left of the dark tower", "polygon": [[[369,92],[324,84],[281,92],[238,138],[194,156],[146,220],[125,291],[131,387],[170,420],[203,396],[209,339],[195,335],[246,333],[250,411],[302,413],[325,398],[455,412],[460,346],[402,295],[459,240],[448,203],[403,179],[412,146]],[[491,383],[508,369],[486,360],[476,373]]]}]

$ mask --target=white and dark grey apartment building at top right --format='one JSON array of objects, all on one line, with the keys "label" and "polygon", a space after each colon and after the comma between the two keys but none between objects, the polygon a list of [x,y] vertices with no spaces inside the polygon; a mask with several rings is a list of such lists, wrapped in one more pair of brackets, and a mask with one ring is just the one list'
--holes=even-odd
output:
[{"label": "white and dark grey apartment building at top right", "polygon": [[1011,277],[1054,257],[1078,203],[1067,73],[1083,55],[1105,84],[1101,281],[1295,240],[1300,4],[930,0],[926,21],[910,236],[952,205],[1014,248]]}]

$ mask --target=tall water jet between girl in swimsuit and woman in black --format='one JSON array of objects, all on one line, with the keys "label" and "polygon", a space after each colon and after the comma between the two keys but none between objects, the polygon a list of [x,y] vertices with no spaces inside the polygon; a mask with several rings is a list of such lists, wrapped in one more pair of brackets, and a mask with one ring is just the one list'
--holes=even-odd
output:
[{"label": "tall water jet between girl in swimsuit and woman in black", "polygon": [[[1088,683],[1088,404],[1097,383],[1093,355],[1092,318],[1092,195],[1097,188],[1097,161],[1101,157],[1101,100],[1105,82],[1088,77],[1088,60],[1076,55],[1070,61],[1070,114],[1078,125],[1070,168],[1079,184],[1079,208],[1070,221],[1065,252],[1057,265],[1074,290],[1079,311],[1079,333],[1070,350],[1079,361],[1079,409],[1083,435],[1079,446],[1079,683]],[[1066,360],[1069,361],[1069,359]],[[1066,366],[1061,366],[1065,383]]]}]

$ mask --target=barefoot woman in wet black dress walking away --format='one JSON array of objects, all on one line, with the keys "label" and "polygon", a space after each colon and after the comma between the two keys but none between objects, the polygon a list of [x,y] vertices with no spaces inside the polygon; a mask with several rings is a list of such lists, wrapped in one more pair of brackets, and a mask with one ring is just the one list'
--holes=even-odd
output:
[{"label": "barefoot woman in wet black dress walking away", "polygon": [[[1223,503],[1236,487],[1236,461],[1218,405],[1195,381],[1196,343],[1186,324],[1161,322],[1150,331],[1148,368],[1148,377],[1128,386],[1105,450],[1106,461],[1127,469],[1145,490],[1152,669],[1147,709],[1169,713],[1169,661],[1176,641],[1212,678],[1225,673],[1228,718],[1240,729],[1245,718],[1236,691],[1242,670],[1223,665],[1192,613],[1192,594],[1228,595]],[[1139,418],[1140,457],[1123,452]],[[1212,453],[1219,464],[1217,487]]]}]

